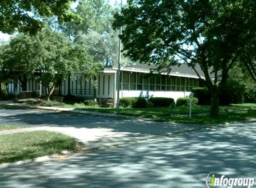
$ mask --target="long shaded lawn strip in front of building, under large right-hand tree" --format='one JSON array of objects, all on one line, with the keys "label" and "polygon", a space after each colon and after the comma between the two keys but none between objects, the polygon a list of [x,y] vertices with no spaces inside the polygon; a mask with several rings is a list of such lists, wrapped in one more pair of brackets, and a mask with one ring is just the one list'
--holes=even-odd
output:
[{"label": "long shaded lawn strip in front of building, under large right-hand tree", "polygon": [[[30,102],[31,104],[33,102]],[[47,104],[46,102],[39,103]],[[93,108],[85,106],[83,103],[67,102],[58,104],[56,102],[48,103],[53,106],[61,106],[66,108],[75,108],[79,110],[97,111],[103,113],[123,114],[138,116],[141,118],[155,118],[155,121],[166,121],[176,123],[227,123],[256,118],[256,103],[232,104],[230,106],[220,106],[220,115],[218,118],[210,118],[210,106],[193,106],[193,118],[189,119],[189,106],[180,107],[159,107],[159,108]],[[180,116],[179,116],[180,115]],[[187,116],[186,116],[187,115]]]}]

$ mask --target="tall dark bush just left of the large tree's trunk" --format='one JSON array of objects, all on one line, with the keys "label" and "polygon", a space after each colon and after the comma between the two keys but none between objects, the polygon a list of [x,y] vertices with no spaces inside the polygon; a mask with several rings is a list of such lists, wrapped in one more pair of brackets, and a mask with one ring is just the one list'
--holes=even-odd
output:
[{"label": "tall dark bush just left of the large tree's trunk", "polygon": [[211,95],[205,87],[194,87],[192,89],[194,97],[198,99],[198,105],[210,105]]}]

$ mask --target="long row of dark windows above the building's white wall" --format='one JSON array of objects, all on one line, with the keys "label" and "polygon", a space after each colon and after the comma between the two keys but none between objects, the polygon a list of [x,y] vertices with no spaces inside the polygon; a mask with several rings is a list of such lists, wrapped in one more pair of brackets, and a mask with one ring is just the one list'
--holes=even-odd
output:
[{"label": "long row of dark windows above the building's white wall", "polygon": [[199,86],[196,78],[174,77],[169,75],[146,76],[143,73],[121,72],[121,90],[159,90],[159,91],[191,91]]}]

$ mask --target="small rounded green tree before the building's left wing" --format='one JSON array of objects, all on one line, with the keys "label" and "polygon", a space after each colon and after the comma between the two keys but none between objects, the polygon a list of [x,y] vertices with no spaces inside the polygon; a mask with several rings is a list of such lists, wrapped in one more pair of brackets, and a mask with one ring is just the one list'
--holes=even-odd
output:
[{"label": "small rounded green tree before the building's left wing", "polygon": [[3,52],[4,74],[16,81],[22,79],[18,75],[36,76],[46,89],[47,100],[55,86],[68,75],[75,79],[80,73],[89,80],[100,67],[92,62],[84,46],[74,45],[62,33],[50,28],[42,29],[35,36],[20,34],[11,39],[9,46]]}]

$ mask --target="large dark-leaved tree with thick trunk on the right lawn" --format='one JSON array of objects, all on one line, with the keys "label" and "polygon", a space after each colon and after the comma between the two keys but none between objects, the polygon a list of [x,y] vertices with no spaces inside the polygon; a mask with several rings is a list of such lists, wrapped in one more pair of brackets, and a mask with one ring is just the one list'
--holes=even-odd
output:
[{"label": "large dark-leaved tree with thick trunk on the right lawn", "polygon": [[255,9],[252,0],[128,0],[114,27],[123,26],[124,50],[133,61],[167,71],[180,62],[200,65],[214,117],[229,70],[255,60]]}]

